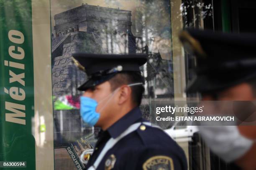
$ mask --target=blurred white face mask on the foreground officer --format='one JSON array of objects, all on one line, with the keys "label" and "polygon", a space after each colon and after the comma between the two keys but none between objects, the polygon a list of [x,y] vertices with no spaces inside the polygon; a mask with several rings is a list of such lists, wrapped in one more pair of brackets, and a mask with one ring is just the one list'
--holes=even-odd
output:
[{"label": "blurred white face mask on the foreground officer", "polygon": [[242,157],[253,145],[243,137],[237,126],[198,126],[199,133],[212,152],[226,162]]}]

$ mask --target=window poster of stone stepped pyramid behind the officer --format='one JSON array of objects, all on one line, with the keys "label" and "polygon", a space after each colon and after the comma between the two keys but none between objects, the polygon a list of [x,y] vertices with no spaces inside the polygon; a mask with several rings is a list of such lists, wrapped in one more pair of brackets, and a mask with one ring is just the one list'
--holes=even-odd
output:
[{"label": "window poster of stone stepped pyramid behind the officer", "polygon": [[56,169],[80,169],[98,128],[84,126],[77,87],[86,79],[72,53],[146,53],[141,110],[150,120],[156,98],[174,96],[169,0],[51,0],[51,71]]}]

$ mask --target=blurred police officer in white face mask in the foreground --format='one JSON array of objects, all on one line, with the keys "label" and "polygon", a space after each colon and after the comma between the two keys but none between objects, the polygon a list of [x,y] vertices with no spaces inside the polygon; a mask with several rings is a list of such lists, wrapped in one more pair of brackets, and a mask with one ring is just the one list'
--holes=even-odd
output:
[{"label": "blurred police officer in white face mask in the foreground", "polygon": [[[238,117],[248,118],[256,111],[251,102],[256,100],[255,35],[184,30],[179,37],[197,60],[196,78],[187,86],[187,93],[199,92],[202,100],[247,101],[242,102],[244,105]],[[239,103],[233,103],[234,107],[239,107]],[[230,112],[233,112],[232,109]],[[199,129],[210,149],[223,160],[236,162],[242,169],[256,169],[255,126],[209,126]]]}]

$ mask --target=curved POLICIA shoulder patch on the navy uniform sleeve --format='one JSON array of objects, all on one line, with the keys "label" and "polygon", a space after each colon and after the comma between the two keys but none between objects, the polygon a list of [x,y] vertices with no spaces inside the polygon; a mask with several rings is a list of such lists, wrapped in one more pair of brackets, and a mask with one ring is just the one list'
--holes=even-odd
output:
[{"label": "curved POLICIA shoulder patch on the navy uniform sleeve", "polygon": [[154,156],[143,163],[143,170],[174,170],[173,160],[167,156]]}]

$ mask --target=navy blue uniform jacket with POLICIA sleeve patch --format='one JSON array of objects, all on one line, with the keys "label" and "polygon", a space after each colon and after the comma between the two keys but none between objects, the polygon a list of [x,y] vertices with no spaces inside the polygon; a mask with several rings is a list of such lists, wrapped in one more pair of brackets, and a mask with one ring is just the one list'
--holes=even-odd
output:
[{"label": "navy blue uniform jacket with POLICIA sleeve patch", "polygon": [[[138,107],[119,119],[105,131],[100,131],[94,152],[85,169],[89,168],[106,142],[118,137],[131,124],[145,122]],[[141,125],[108,150],[97,170],[187,170],[187,160],[177,143],[163,130]]]}]

